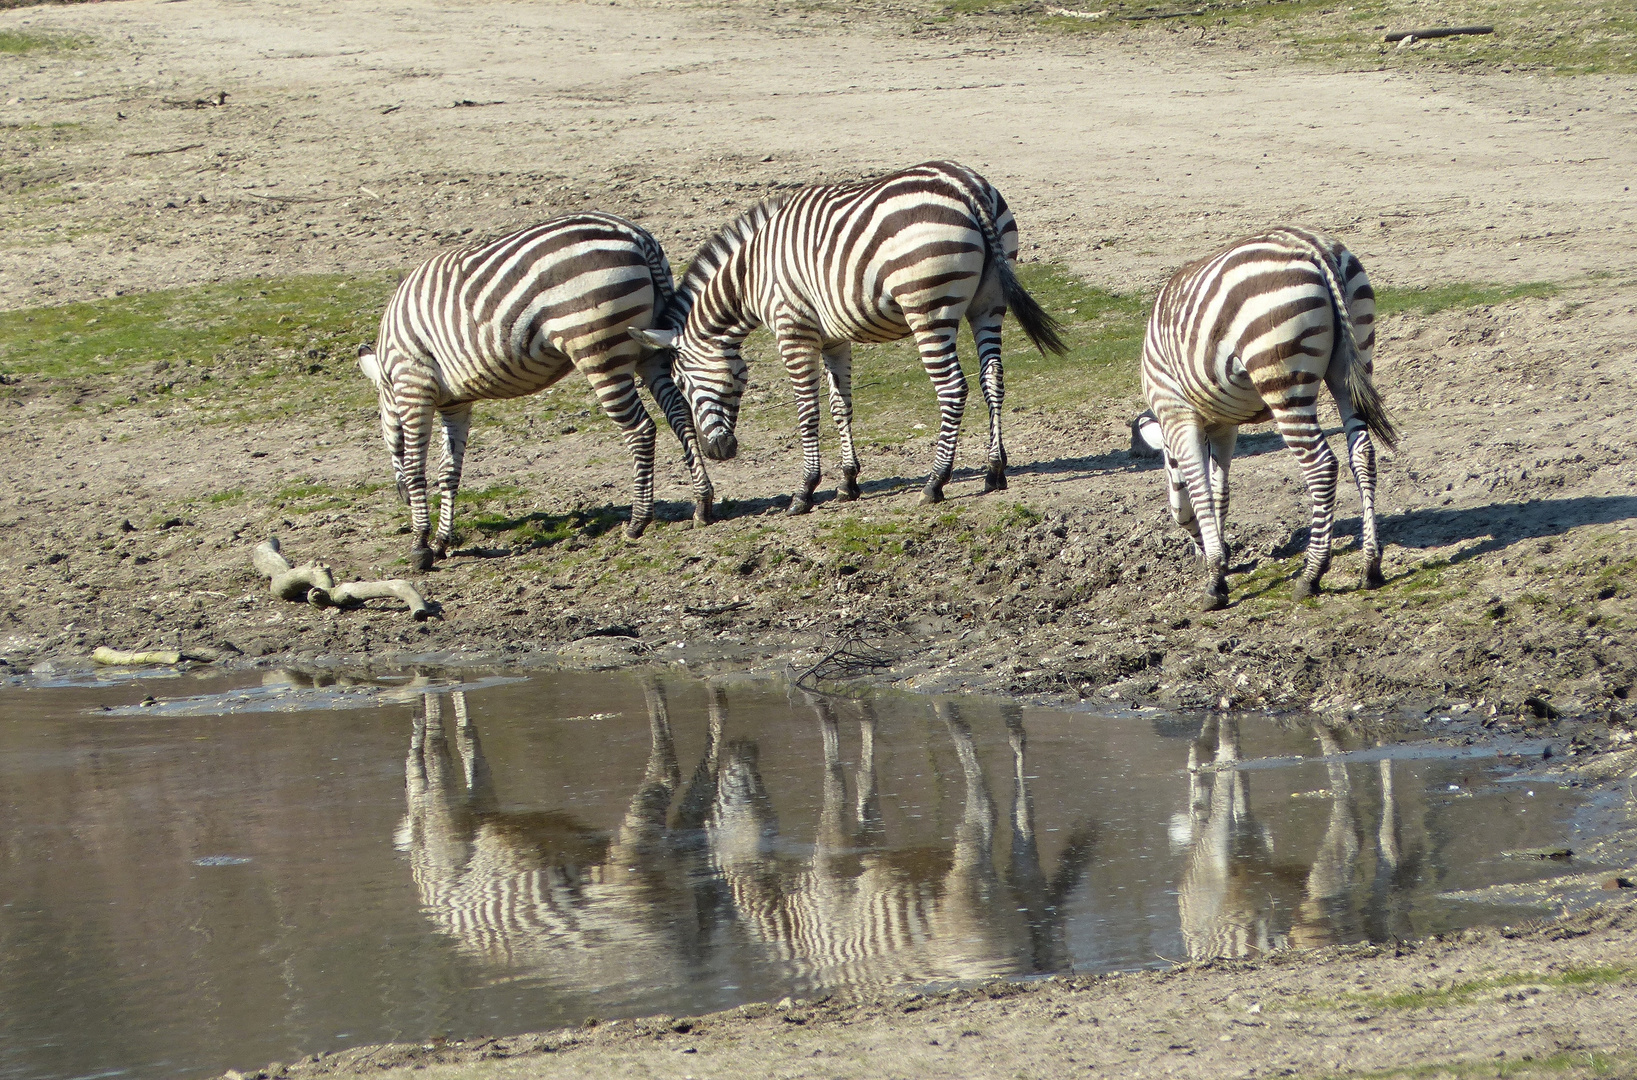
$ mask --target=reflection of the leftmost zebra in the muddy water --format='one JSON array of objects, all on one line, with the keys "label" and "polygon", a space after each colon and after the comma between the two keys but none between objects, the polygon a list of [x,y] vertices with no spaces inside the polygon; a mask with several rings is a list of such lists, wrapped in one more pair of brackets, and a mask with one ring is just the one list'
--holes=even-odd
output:
[{"label": "reflection of the leftmost zebra in the muddy water", "polygon": [[[548,977],[576,990],[686,985],[699,916],[688,853],[666,823],[681,771],[658,686],[647,687],[647,769],[611,838],[560,812],[501,812],[465,694],[449,697],[463,776],[442,697],[426,694],[398,830],[426,915],[503,977]],[[697,795],[684,795],[684,812],[689,799]]]}]

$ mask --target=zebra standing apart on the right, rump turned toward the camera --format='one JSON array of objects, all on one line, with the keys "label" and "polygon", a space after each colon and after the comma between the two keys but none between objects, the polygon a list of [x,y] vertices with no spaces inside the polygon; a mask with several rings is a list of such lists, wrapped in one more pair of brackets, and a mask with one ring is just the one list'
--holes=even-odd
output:
[{"label": "zebra standing apart on the right, rump turned toward the camera", "polygon": [[[1313,497],[1308,558],[1297,599],[1318,592],[1329,566],[1336,455],[1318,421],[1329,386],[1364,502],[1364,587],[1382,584],[1375,535],[1373,432],[1398,434],[1370,381],[1375,293],[1341,244],[1280,227],[1192,262],[1166,283],[1143,340],[1143,393],[1166,442],[1170,509],[1205,555],[1205,609],[1228,604],[1223,520],[1228,460],[1241,424],[1272,419],[1301,461]],[[1139,437],[1139,429],[1133,429]]]}]

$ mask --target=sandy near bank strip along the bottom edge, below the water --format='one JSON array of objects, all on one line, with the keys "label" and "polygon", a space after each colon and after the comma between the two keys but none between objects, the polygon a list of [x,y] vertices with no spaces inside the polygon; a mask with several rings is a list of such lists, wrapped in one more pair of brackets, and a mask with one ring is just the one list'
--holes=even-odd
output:
[{"label": "sandy near bank strip along the bottom edge, below the water", "polygon": [[[457,1077],[1593,1077],[1637,1065],[1637,910],[1449,939],[345,1051],[262,1080]],[[241,1073],[228,1073],[242,1080]]]}]

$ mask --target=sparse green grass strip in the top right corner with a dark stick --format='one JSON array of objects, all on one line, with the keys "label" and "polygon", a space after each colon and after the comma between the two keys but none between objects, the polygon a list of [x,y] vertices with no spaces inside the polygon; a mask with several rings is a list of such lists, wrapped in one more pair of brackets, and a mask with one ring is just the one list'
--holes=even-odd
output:
[{"label": "sparse green grass strip in the top right corner with a dark stick", "polygon": [[[1637,72],[1637,8],[1572,0],[1097,0],[1059,5],[951,0],[946,16],[1015,15],[1072,34],[1254,33],[1300,61],[1324,65],[1527,69],[1557,75]],[[1437,38],[1398,47],[1388,31],[1493,26],[1481,36]]]}]

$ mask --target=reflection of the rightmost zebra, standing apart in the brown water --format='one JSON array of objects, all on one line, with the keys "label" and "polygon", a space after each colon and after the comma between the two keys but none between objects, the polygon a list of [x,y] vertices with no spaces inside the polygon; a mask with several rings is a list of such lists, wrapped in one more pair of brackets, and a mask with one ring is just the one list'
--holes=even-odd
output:
[{"label": "reflection of the rightmost zebra, standing apart in the brown water", "polygon": [[[1393,763],[1378,763],[1382,820],[1375,872],[1360,889],[1365,836],[1336,733],[1315,722],[1331,800],[1310,864],[1275,862],[1272,831],[1251,812],[1251,777],[1238,769],[1239,725],[1210,715],[1188,746],[1188,859],[1177,889],[1182,939],[1190,959],[1244,957],[1285,947],[1413,936],[1408,893],[1419,851],[1405,851],[1393,790]],[[1211,764],[1202,761],[1213,756]]]}]

